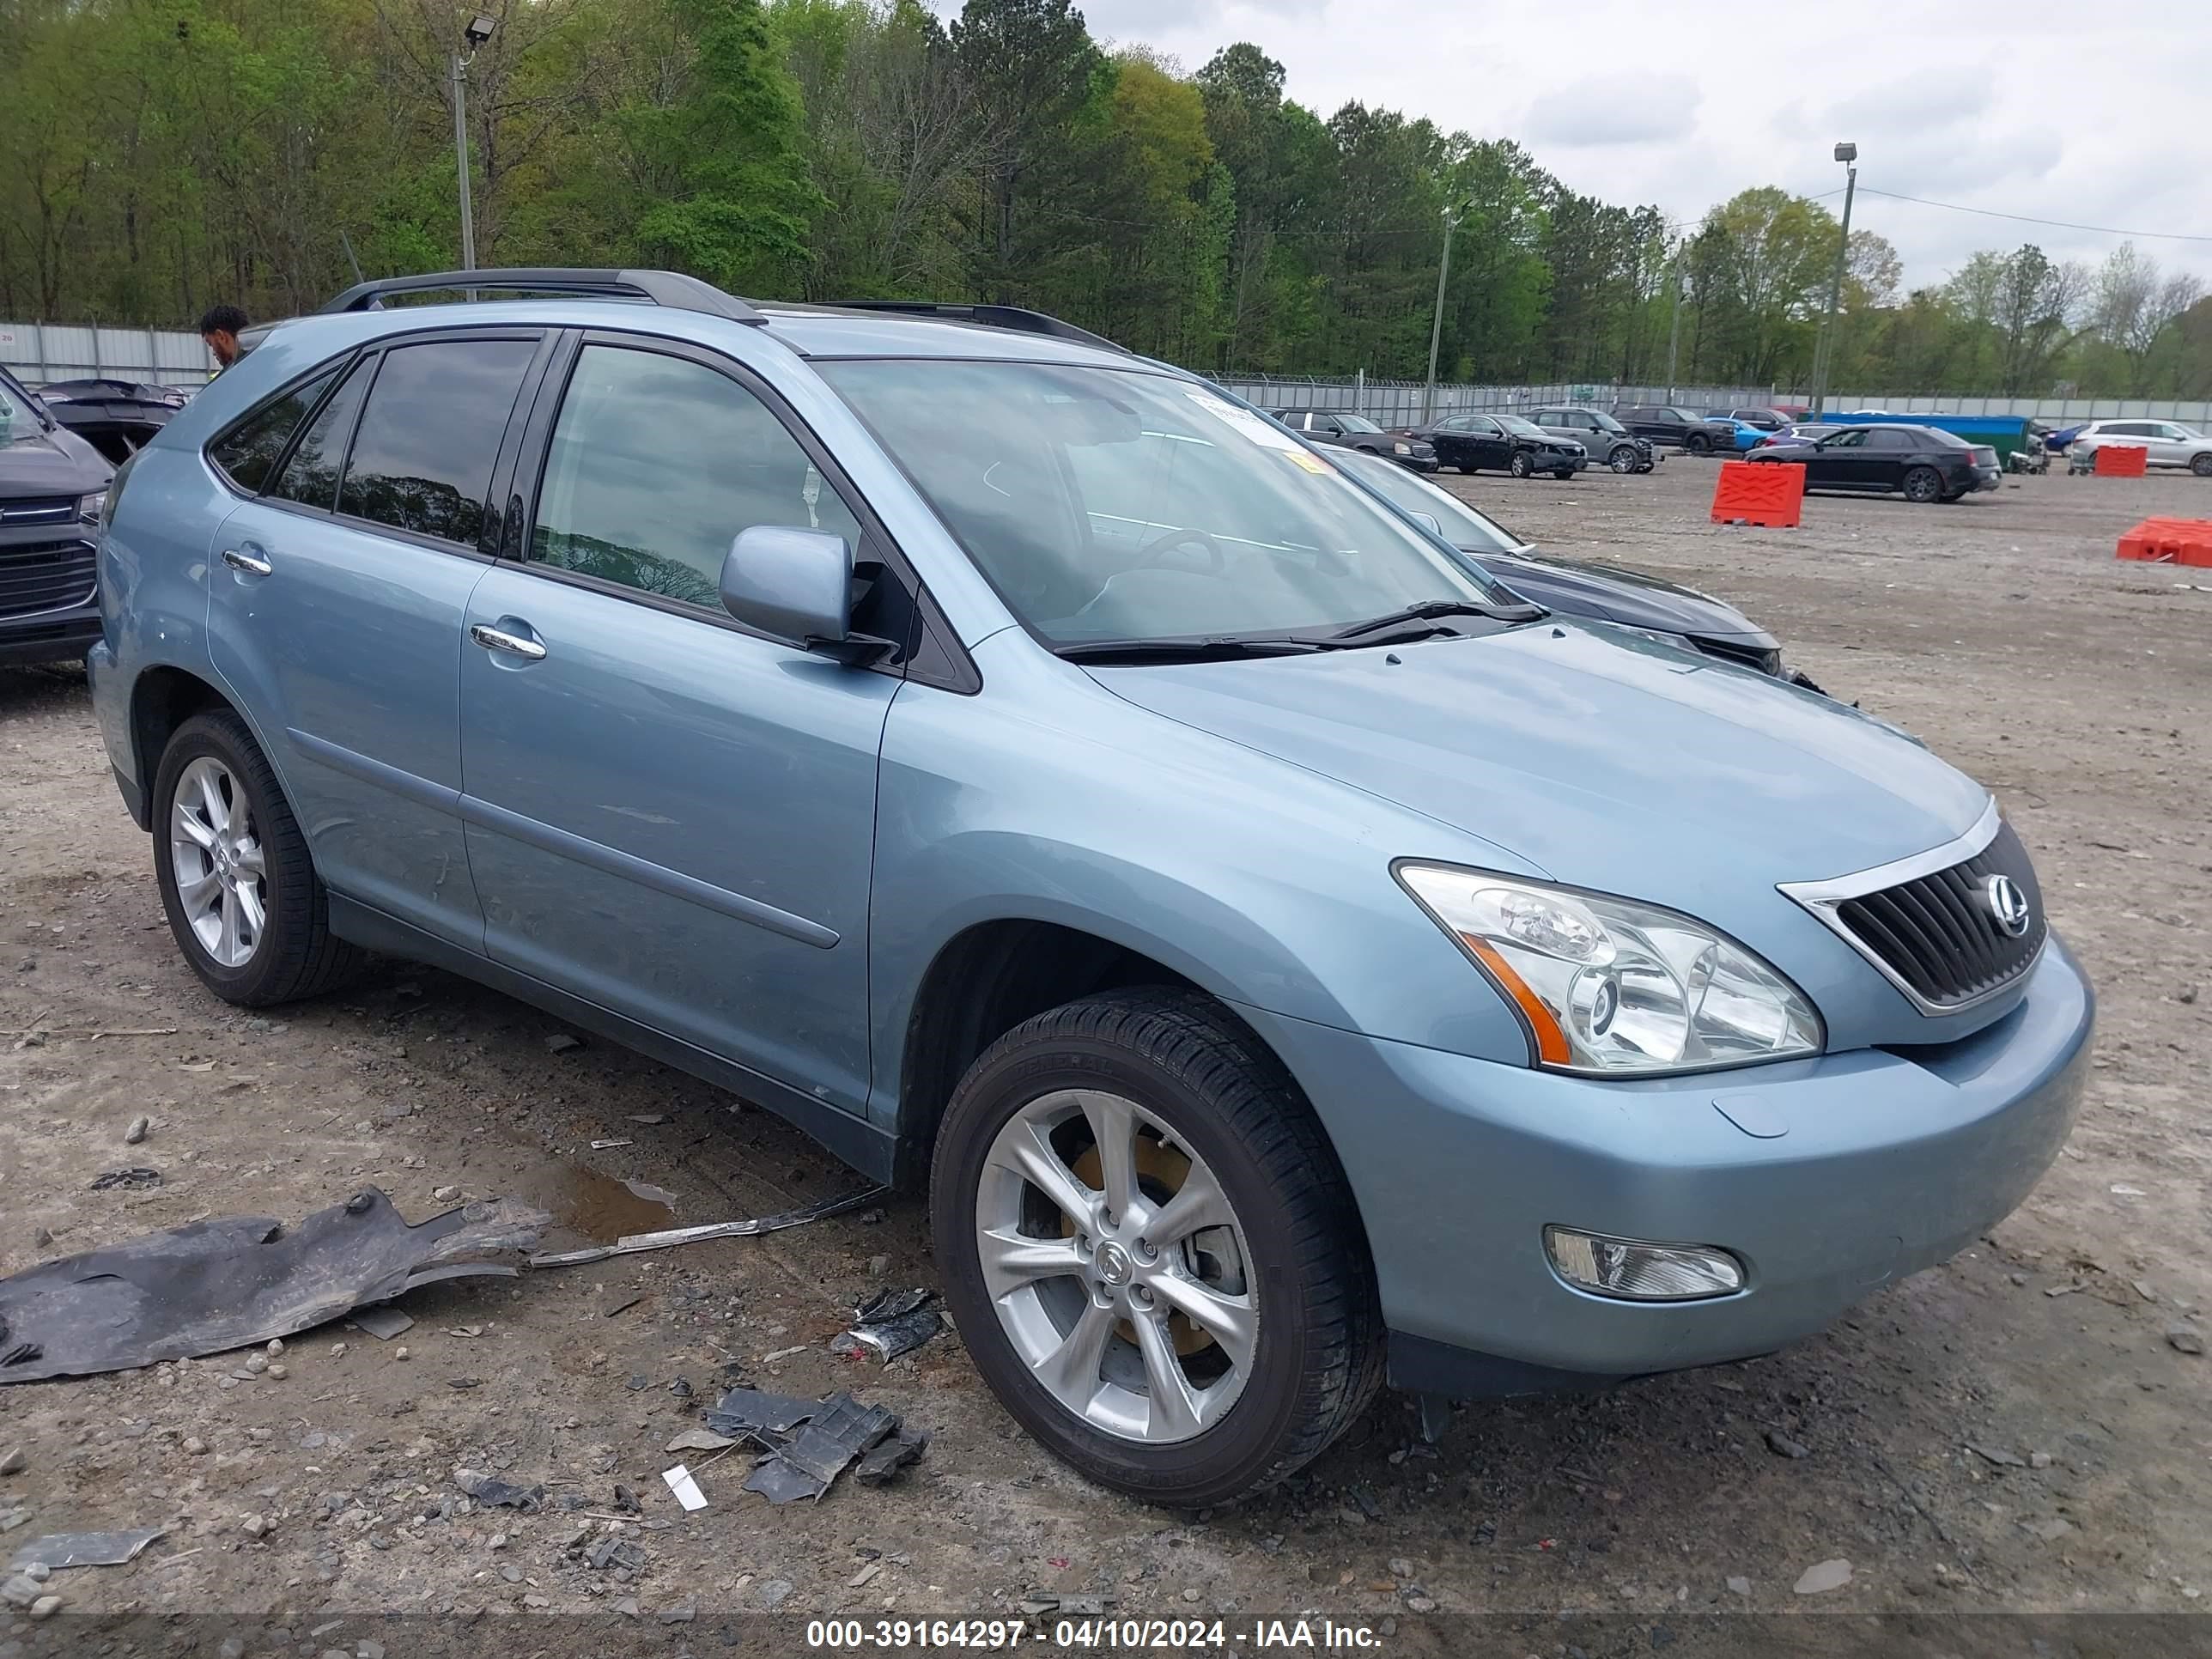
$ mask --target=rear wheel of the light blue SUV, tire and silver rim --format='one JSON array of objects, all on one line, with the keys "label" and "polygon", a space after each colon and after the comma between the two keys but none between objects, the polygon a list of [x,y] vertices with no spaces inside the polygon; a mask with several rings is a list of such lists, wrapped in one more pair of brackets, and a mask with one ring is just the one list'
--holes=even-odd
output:
[{"label": "rear wheel of the light blue SUV, tire and silver rim", "polygon": [[307,838],[237,714],[195,714],[161,750],[153,865],[177,949],[223,1002],[265,1009],[352,973]]}]

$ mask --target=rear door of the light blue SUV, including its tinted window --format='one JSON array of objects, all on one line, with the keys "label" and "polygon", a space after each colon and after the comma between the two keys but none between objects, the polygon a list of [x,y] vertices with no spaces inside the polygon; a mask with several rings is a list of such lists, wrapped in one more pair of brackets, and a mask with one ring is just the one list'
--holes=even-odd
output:
[{"label": "rear door of the light blue SUV, including its tinted window", "polygon": [[542,330],[471,330],[336,365],[281,467],[226,520],[210,575],[215,668],[261,730],[316,872],[471,951],[484,929],[458,814],[462,615],[491,568],[487,498],[544,349]]}]

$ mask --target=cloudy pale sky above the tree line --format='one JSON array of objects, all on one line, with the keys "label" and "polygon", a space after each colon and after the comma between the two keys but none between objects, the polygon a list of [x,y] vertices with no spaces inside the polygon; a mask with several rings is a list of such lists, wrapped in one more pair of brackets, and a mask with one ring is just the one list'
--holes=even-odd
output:
[{"label": "cloudy pale sky above the tree line", "polygon": [[[1290,95],[1329,115],[1363,100],[1444,131],[1513,137],[1577,190],[1697,221],[1754,184],[1860,186],[2212,237],[2212,9],[2106,4],[1657,4],[1655,0],[1077,0],[1091,33],[1199,69],[1252,40]],[[938,0],[945,13],[958,0]],[[2194,111],[2194,117],[2190,115]],[[1840,206],[1834,204],[1834,206]],[[1860,195],[1854,226],[1896,243],[1907,285],[1975,248],[2035,241],[2104,259],[2119,237]],[[2141,237],[2212,281],[2212,241]]]}]

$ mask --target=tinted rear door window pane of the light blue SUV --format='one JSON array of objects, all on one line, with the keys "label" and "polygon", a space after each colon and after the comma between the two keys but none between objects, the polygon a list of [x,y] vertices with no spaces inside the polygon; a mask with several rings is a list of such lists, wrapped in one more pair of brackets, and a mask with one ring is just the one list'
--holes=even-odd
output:
[{"label": "tinted rear door window pane of the light blue SUV", "polygon": [[338,511],[476,546],[484,491],[535,341],[425,341],[385,352]]}]

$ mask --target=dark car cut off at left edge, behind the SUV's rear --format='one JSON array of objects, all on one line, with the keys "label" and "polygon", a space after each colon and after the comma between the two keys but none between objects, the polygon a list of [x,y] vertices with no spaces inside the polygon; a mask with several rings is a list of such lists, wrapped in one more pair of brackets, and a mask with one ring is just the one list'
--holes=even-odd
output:
[{"label": "dark car cut off at left edge, behind the SUV's rear", "polygon": [[69,661],[100,637],[93,546],[113,476],[0,369],[0,664]]}]

